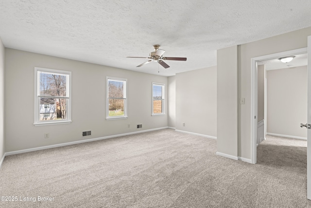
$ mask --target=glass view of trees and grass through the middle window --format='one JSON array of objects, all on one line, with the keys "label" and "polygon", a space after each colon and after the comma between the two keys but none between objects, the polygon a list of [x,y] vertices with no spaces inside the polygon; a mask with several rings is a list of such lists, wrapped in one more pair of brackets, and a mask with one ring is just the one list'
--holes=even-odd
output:
[{"label": "glass view of trees and grass through the middle window", "polygon": [[108,79],[109,116],[124,115],[125,81]]}]

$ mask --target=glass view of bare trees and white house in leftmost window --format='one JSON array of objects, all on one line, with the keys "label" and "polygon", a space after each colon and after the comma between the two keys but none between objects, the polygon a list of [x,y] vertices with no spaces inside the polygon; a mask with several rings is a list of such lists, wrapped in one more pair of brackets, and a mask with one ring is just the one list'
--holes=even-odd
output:
[{"label": "glass view of bare trees and white house in leftmost window", "polygon": [[39,75],[40,120],[66,119],[67,76],[48,72]]}]

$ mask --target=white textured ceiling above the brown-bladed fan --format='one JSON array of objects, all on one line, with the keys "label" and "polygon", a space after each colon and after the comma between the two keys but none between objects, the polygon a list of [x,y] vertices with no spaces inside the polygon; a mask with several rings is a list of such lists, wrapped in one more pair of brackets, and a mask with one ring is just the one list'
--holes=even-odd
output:
[{"label": "white textured ceiling above the brown-bladed fan", "polygon": [[[172,76],[216,65],[217,49],[311,26],[311,0],[0,0],[5,47]],[[154,51],[187,61],[142,67]],[[159,73],[158,73],[159,69]]]}]

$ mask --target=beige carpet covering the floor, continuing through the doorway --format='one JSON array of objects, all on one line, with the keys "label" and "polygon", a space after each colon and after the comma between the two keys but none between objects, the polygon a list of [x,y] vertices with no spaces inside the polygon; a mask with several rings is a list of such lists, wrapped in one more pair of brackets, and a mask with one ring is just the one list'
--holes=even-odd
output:
[{"label": "beige carpet covering the floor, continuing through the doorway", "polygon": [[267,137],[257,165],[215,152],[216,140],[166,129],[7,156],[0,196],[17,201],[0,207],[311,206],[306,141]]}]

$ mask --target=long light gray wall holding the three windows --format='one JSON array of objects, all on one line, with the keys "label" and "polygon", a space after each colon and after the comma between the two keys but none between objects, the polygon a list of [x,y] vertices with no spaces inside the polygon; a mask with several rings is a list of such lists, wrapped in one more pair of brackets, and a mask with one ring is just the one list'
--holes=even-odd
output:
[{"label": "long light gray wall holding the three windows", "polygon": [[[7,152],[168,126],[167,114],[151,116],[152,82],[167,86],[165,76],[8,48],[5,49],[5,63]],[[71,124],[34,126],[34,67],[72,72]],[[127,78],[128,119],[105,119],[106,76]],[[167,103],[166,100],[166,106]],[[137,129],[137,124],[142,124],[143,128]],[[82,137],[82,132],[89,130],[92,135]],[[50,138],[44,139],[44,133],[50,133]]]}]

